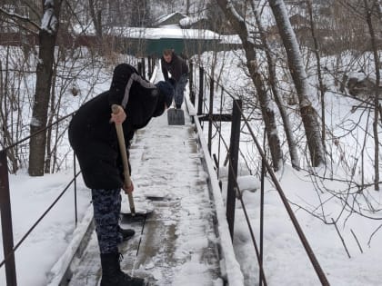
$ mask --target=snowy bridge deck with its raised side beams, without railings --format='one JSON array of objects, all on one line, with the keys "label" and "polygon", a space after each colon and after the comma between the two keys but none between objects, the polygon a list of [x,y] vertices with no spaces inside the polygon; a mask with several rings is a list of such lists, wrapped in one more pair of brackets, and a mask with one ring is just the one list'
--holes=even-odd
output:
[{"label": "snowy bridge deck with its raised side beams, without railings", "polygon": [[[136,235],[120,244],[121,269],[154,285],[243,285],[226,212],[206,143],[188,101],[185,125],[168,125],[166,113],[136,132],[130,149],[136,212],[122,220]],[[191,113],[192,110],[191,110]],[[200,126],[199,126],[200,127]],[[55,264],[50,285],[96,285],[101,277],[92,209]],[[123,195],[122,212],[129,212]],[[226,271],[228,270],[228,271]]]}]

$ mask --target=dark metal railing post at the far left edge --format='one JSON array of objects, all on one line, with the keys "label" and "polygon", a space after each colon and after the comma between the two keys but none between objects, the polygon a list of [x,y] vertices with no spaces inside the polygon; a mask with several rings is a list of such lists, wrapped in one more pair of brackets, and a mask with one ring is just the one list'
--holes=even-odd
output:
[{"label": "dark metal railing post at the far left edge", "polygon": [[0,151],[0,213],[3,233],[3,250],[5,258],[5,277],[7,286],[16,286],[14,234],[12,229],[12,212],[9,195],[8,163],[6,152]]}]

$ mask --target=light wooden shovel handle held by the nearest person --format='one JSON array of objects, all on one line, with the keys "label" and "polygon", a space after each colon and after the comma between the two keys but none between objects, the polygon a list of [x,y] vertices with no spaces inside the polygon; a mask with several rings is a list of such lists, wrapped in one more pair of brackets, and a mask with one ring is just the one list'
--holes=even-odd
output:
[{"label": "light wooden shovel handle held by the nearest person", "polygon": [[[115,114],[119,113],[118,105],[116,105],[116,104],[112,105],[112,112],[115,113]],[[130,170],[128,168],[128,159],[127,159],[127,153],[126,153],[126,143],[125,143],[124,131],[122,129],[122,124],[117,124],[116,123],[116,136],[118,137],[119,151],[121,153],[122,164],[124,166],[125,185],[126,185],[127,188],[130,188],[130,186],[131,186]],[[128,196],[128,202],[129,202],[129,205],[130,205],[131,215],[134,216],[134,215],[136,215],[136,206],[134,204],[133,193],[132,192],[127,192],[127,196]]]}]

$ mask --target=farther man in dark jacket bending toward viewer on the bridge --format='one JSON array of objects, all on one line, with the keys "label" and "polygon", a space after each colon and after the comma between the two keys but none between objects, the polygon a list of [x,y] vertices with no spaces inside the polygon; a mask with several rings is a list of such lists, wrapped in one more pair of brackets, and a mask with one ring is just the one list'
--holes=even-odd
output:
[{"label": "farther man in dark jacket bending toward viewer on the bridge", "polygon": [[[174,50],[166,49],[161,58],[162,73],[165,80],[168,81],[168,73],[175,85],[175,103],[176,109],[181,108],[185,97],[185,88],[188,82],[188,66],[186,61],[175,54]],[[168,106],[169,107],[169,106]]]}]

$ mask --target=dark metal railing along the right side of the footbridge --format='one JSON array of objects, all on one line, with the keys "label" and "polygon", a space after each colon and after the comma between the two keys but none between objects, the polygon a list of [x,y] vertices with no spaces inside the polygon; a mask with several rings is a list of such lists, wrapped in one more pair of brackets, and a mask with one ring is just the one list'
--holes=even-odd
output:
[{"label": "dark metal railing along the right side of the footbridge", "polygon": [[[207,142],[208,142],[208,151],[210,153],[210,156],[216,163],[216,172],[217,176],[219,176],[219,168],[220,168],[220,149],[221,146],[223,146],[226,149],[227,153],[227,159],[226,162],[228,164],[228,182],[227,182],[227,196],[226,196],[226,220],[228,222],[229,232],[231,234],[231,238],[233,240],[234,237],[234,226],[235,226],[235,212],[236,212],[236,198],[240,201],[242,210],[244,212],[244,216],[246,218],[246,224],[248,226],[248,231],[250,232],[250,237],[253,242],[255,251],[256,251],[256,258],[257,263],[259,265],[259,285],[267,285],[266,284],[266,275],[264,271],[264,265],[263,265],[263,245],[264,245],[264,182],[266,178],[266,173],[269,174],[270,181],[273,182],[274,186],[276,187],[276,191],[281,198],[281,201],[283,202],[283,205],[286,209],[286,212],[288,213],[288,216],[293,223],[295,230],[297,232],[297,235],[300,239],[300,242],[302,242],[303,247],[305,248],[307,252],[307,256],[309,260],[311,261],[313,268],[315,269],[317,273],[317,277],[319,281],[321,281],[322,285],[329,285],[329,282],[327,281],[327,277],[322,270],[321,266],[319,265],[317,258],[312,251],[309,243],[307,242],[307,238],[302,231],[297,218],[295,216],[295,213],[293,212],[292,208],[290,207],[289,202],[286,199],[285,192],[283,191],[280,183],[276,179],[276,174],[274,173],[270,163],[266,160],[266,153],[263,150],[263,147],[258,142],[256,138],[256,133],[254,133],[249,121],[247,120],[246,114],[243,112],[242,108],[242,101],[237,98],[234,94],[229,93],[226,91],[225,87],[221,84],[216,84],[216,81],[214,78],[208,74],[206,74],[205,69],[202,66],[197,66],[198,73],[196,74],[196,68],[195,64],[190,64],[190,101],[194,106],[196,105],[196,94],[197,95],[197,114],[195,116],[194,120],[200,120],[201,122],[208,122],[208,131],[207,131]],[[194,84],[196,82],[196,79],[198,78],[198,88]],[[206,90],[209,85],[208,91]],[[223,94],[226,94],[229,98],[232,99],[232,113],[231,114],[224,114],[222,106],[220,106],[220,112],[214,113],[214,98],[215,98],[215,92],[214,92],[214,86],[218,86],[221,91],[221,98],[220,98],[220,104],[222,103]],[[208,97],[208,105],[206,104],[205,100],[205,94],[209,94]],[[226,141],[223,138],[222,130],[221,130],[221,123],[222,122],[231,122],[231,134],[230,134],[230,142],[229,144],[226,143]],[[241,127],[241,123],[244,123],[244,125]],[[218,133],[218,158],[216,158],[216,154],[211,154],[211,146],[212,146],[212,140],[213,140],[213,128],[215,128],[215,133]],[[241,195],[239,185],[237,182],[237,163],[239,160],[239,154],[242,156],[244,160],[246,158],[244,157],[243,153],[240,150],[240,133],[243,132],[243,129],[246,128],[246,133],[249,134],[251,140],[256,145],[256,150],[259,153],[261,157],[261,165],[260,165],[260,225],[259,225],[259,246],[257,246],[255,233],[253,231],[253,227],[251,225],[251,222],[249,220],[248,212],[246,210],[246,204],[243,200],[243,197]]]}]

